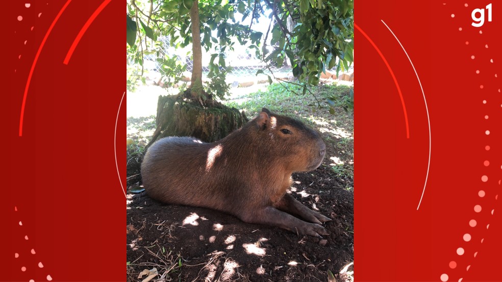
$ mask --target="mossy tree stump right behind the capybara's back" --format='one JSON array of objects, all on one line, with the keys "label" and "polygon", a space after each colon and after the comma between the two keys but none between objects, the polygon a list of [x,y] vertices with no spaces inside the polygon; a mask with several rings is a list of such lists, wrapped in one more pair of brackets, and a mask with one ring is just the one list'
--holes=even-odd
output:
[{"label": "mossy tree stump right behind the capybara's back", "polygon": [[180,96],[159,96],[157,129],[146,148],[167,136],[192,136],[204,142],[215,142],[242,127],[246,116],[236,108],[212,101],[202,107]]}]

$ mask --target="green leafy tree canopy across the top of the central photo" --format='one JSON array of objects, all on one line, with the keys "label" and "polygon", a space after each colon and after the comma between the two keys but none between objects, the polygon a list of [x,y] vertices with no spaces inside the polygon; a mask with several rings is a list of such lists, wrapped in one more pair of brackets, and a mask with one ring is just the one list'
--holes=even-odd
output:
[{"label": "green leafy tree canopy across the top of the central photo", "polygon": [[[131,0],[127,5],[128,85],[141,77],[146,54],[157,55],[160,72],[169,82],[181,79],[184,63],[159,51],[166,39],[176,48],[192,43],[194,3],[200,45],[211,53],[208,78],[212,83],[224,84],[231,67],[225,62],[225,51],[233,50],[235,44],[254,50],[265,66],[256,74],[267,74],[270,82],[271,66],[282,66],[285,61],[302,86],[317,85],[323,71],[347,69],[354,61],[353,0]],[[254,30],[263,17],[268,29]],[[224,93],[214,94],[222,97]]]}]

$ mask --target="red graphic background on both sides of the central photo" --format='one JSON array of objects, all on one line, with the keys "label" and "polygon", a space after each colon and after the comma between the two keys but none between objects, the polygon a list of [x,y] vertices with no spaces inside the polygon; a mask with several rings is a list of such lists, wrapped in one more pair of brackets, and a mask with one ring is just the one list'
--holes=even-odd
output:
[{"label": "red graphic background on both sides of the central photo", "polygon": [[[99,13],[65,65],[74,38],[103,1],[69,3],[35,65],[22,137],[19,117],[27,78],[66,1],[7,3],[1,19],[7,26],[2,48],[8,63],[2,68],[0,96],[5,125],[0,280],[38,281],[47,275],[55,281],[125,280],[125,199],[114,154],[118,112],[117,162],[125,184],[125,155],[120,153],[125,149],[125,98],[119,110],[125,91],[125,3],[112,0]],[[472,9],[489,3],[356,2],[355,22],[391,67],[410,132],[407,138],[391,73],[356,30],[356,281],[438,281],[442,274],[451,281],[502,280],[501,207],[495,200],[502,187],[497,3],[492,22],[470,25]],[[429,159],[428,117],[413,68],[382,19],[406,48],[429,108],[431,162],[418,210]],[[474,211],[475,205],[481,212]],[[471,219],[475,227],[469,226]],[[459,247],[465,250],[462,256]],[[449,267],[451,261],[455,268]]]}]

